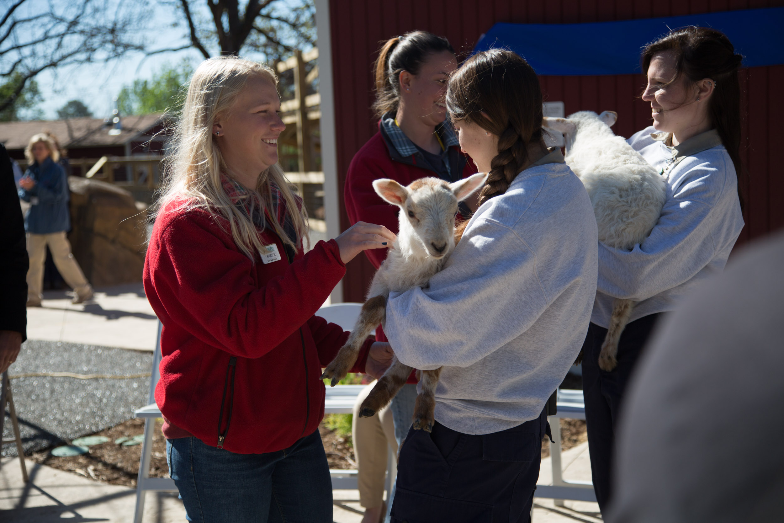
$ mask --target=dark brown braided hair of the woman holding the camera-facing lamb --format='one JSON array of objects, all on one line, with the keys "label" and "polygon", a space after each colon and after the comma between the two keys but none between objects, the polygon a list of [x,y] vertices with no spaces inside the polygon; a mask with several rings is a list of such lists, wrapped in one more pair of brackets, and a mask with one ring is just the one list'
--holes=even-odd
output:
[{"label": "dark brown braided hair of the woman holding the camera-facing lamb", "polygon": [[449,78],[452,122],[470,122],[499,137],[479,205],[504,194],[528,163],[528,144],[542,141],[542,89],[528,62],[507,49],[471,56]]}]

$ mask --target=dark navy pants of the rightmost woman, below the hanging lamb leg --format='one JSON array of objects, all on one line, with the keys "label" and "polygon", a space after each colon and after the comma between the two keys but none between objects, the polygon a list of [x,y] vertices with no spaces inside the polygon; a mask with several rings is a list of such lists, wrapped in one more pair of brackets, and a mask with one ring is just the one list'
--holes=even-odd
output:
[{"label": "dark navy pants of the rightmost woman, below the hanging lamb leg", "polygon": [[607,329],[591,323],[583,343],[583,397],[586,403],[590,468],[593,490],[603,513],[609,505],[611,494],[615,426],[626,384],[660,316],[661,313],[650,314],[626,325],[618,343],[618,365],[610,372],[599,369],[599,353]]}]

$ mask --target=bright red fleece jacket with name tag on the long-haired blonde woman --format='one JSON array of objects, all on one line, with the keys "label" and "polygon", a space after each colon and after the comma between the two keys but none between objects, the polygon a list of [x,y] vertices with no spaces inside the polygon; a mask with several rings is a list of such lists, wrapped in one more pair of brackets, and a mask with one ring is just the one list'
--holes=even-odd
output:
[{"label": "bright red fleece jacket with name tag on the long-haired blonde woman", "polygon": [[[300,248],[289,263],[267,230],[263,245],[277,245],[281,260],[265,264],[257,254],[252,263],[225,220],[172,210],[181,203],[159,214],[144,263],[144,290],[163,323],[155,401],[169,423],[207,445],[218,444],[220,430],[231,452],[286,449],[321,422],[321,368],[349,336],[314,316],[346,272],[338,245]],[[353,372],[364,372],[372,341]]]}]

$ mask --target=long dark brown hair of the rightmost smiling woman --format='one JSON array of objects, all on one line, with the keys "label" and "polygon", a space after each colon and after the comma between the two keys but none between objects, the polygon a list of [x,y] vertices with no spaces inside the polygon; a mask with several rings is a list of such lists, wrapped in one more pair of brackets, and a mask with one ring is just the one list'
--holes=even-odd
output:
[{"label": "long dark brown hair of the rightmost smiling woman", "polygon": [[738,196],[743,206],[738,80],[738,69],[743,57],[735,53],[735,47],[721,31],[709,27],[681,27],[645,46],[642,52],[643,73],[648,72],[655,55],[668,51],[675,54],[677,71],[668,85],[681,77],[692,83],[704,78],[714,82],[713,95],[708,99],[708,114],[735,165]]}]

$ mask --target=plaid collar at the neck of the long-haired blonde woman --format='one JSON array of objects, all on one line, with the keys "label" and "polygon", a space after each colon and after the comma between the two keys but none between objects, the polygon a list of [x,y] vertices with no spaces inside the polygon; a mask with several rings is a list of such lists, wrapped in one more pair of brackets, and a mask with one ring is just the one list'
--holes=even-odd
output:
[{"label": "plaid collar at the neck of the long-haired blonde woman", "polygon": [[[291,213],[286,206],[285,198],[283,198],[281,189],[278,187],[277,183],[274,183],[272,180],[268,181],[270,185],[270,192],[272,194],[272,209],[265,210],[267,220],[264,220],[264,216],[261,213],[261,203],[258,201],[259,195],[256,193],[256,191],[248,191],[241,185],[241,183],[234,180],[233,178],[230,178],[230,176],[228,176],[226,173],[220,173],[220,183],[223,185],[223,191],[226,192],[226,195],[231,200],[231,203],[233,203],[238,209],[244,209],[245,214],[250,217],[253,223],[256,224],[257,229],[263,231],[265,228],[267,228],[277,234],[274,228],[270,225],[271,211],[278,219],[278,223],[281,224],[283,232],[285,232],[286,236],[288,236],[296,245],[299,245],[299,241],[302,238],[299,238],[299,234],[297,234],[296,227],[294,227],[294,220],[292,219]],[[301,211],[303,205],[302,198],[299,198],[299,196],[294,194],[294,201],[296,202],[297,209]],[[289,254],[289,260],[292,260],[294,253],[291,245],[284,243],[284,247],[286,249],[286,253]],[[292,252],[289,252],[289,249],[291,249]]]}]

